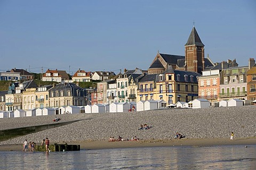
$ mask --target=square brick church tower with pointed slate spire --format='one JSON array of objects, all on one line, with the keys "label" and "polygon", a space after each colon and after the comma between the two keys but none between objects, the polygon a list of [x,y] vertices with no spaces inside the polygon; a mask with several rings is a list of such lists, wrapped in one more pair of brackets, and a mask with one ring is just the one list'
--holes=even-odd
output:
[{"label": "square brick church tower with pointed slate spire", "polygon": [[195,25],[185,44],[185,70],[200,74],[204,70],[204,44],[198,36]]}]

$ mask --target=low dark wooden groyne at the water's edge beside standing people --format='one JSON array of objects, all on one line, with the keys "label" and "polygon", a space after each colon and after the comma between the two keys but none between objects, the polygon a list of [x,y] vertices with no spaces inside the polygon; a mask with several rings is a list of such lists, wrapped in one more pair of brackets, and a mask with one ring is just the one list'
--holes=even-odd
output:
[{"label": "low dark wooden groyne at the water's edge beside standing people", "polygon": [[[49,146],[49,150],[51,152],[57,152],[57,151],[78,151],[80,150],[80,145],[68,145],[65,144],[57,144],[54,143],[54,145]],[[46,151],[45,145],[38,145],[35,147],[35,151]]]}]

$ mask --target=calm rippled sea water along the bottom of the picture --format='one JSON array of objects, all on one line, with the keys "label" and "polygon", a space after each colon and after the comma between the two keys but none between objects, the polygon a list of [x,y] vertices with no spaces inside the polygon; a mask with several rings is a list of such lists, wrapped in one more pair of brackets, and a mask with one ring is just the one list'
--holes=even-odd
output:
[{"label": "calm rippled sea water along the bottom of the picture", "polygon": [[256,169],[256,145],[0,152],[0,169]]}]

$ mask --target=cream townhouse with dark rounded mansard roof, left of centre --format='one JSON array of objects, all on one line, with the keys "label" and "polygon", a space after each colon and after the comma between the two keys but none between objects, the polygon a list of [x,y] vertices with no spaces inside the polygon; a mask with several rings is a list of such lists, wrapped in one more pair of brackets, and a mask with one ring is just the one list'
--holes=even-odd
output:
[{"label": "cream townhouse with dark rounded mansard roof, left of centre", "polygon": [[84,106],[84,89],[75,83],[59,83],[49,90],[50,107]]}]

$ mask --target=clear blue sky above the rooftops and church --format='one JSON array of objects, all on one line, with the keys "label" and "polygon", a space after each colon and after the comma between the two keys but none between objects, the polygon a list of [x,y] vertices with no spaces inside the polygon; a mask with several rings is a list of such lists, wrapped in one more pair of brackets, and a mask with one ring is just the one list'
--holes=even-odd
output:
[{"label": "clear blue sky above the rooftops and church", "polygon": [[193,21],[213,62],[256,60],[256,1],[0,0],[0,71],[147,70],[185,55]]}]

